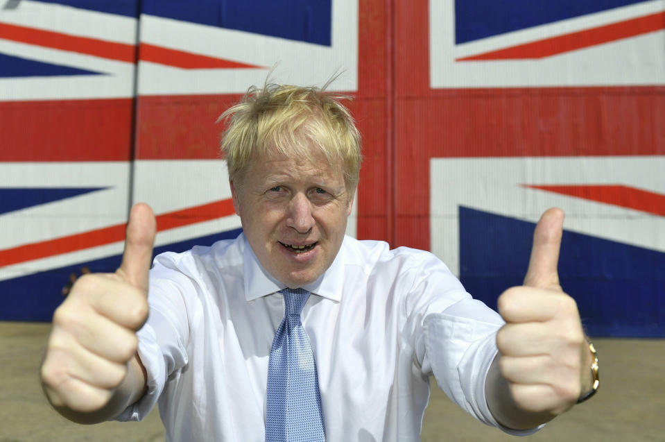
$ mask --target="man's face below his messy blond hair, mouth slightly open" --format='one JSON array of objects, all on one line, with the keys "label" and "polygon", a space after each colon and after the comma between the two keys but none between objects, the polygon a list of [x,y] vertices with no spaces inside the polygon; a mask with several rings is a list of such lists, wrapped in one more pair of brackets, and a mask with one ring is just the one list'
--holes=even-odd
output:
[{"label": "man's face below his messy blond hair, mouth slightly open", "polygon": [[339,165],[276,155],[252,162],[231,189],[245,237],[277,280],[300,287],[332,264],[353,203]]}]

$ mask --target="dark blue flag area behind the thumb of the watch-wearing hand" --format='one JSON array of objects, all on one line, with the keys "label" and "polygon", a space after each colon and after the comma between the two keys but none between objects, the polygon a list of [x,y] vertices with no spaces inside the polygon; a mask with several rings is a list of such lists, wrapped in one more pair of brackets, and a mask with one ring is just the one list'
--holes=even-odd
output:
[{"label": "dark blue flag area behind the thumb of the watch-wearing hand", "polygon": [[[521,285],[534,223],[459,207],[460,280],[496,309]],[[564,230],[559,278],[591,336],[665,337],[665,253]]]}]

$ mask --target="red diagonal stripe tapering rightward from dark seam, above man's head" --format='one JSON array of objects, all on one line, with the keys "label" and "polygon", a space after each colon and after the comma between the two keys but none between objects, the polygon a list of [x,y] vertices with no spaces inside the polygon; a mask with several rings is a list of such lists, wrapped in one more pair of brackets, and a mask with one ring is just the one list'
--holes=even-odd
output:
[{"label": "red diagonal stripe tapering rightward from dark seam, above man's head", "polygon": [[139,58],[142,61],[159,63],[160,65],[181,67],[183,69],[232,69],[241,67],[259,67],[230,60],[223,60],[222,58],[202,56],[196,53],[154,46],[153,44],[147,43],[141,43]]}]

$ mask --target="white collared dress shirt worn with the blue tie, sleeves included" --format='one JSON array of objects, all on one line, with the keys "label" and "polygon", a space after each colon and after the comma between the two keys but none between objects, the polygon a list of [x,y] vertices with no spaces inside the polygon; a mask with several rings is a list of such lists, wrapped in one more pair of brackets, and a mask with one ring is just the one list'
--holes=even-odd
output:
[{"label": "white collared dress shirt worn with the blue tie, sleeves included", "polygon": [[[159,402],[167,441],[264,441],[284,287],[243,235],[157,256],[138,333],[148,393],[118,419],[139,420]],[[437,257],[345,237],[303,288],[327,441],[419,441],[432,374],[460,407],[497,425],[485,377],[503,321]]]}]

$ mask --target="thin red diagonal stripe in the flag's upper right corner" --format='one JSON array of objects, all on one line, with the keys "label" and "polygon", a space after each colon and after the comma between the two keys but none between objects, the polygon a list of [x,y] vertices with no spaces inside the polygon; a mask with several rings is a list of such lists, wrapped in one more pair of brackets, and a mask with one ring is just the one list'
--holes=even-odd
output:
[{"label": "thin red diagonal stripe in the flag's upper right corner", "polygon": [[585,29],[585,31],[559,35],[537,42],[519,44],[518,46],[485,52],[476,56],[458,58],[456,61],[544,58],[558,53],[575,51],[589,46],[614,42],[622,38],[659,31],[664,28],[665,12],[657,12],[625,22]]}]

